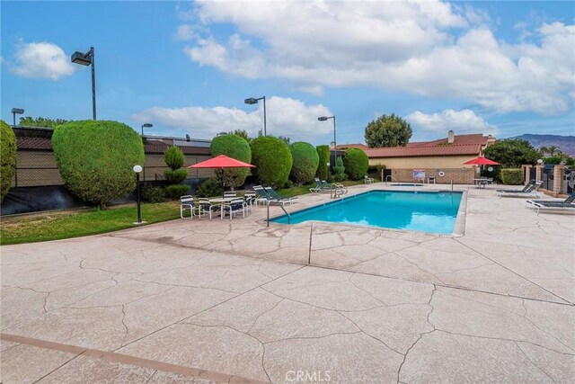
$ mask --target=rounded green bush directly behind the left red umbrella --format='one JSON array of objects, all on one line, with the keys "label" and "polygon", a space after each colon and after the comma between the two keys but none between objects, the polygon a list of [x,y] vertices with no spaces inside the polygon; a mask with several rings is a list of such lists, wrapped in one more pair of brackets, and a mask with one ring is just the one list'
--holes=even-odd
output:
[{"label": "rounded green bush directly behind the left red umbrella", "polygon": [[[252,162],[252,149],[247,140],[238,135],[222,135],[212,139],[212,144],[209,147],[212,156],[226,155],[233,157],[236,160],[243,161],[244,163]],[[248,168],[230,168],[224,170],[217,170],[217,177],[224,177],[226,185],[232,188],[237,188],[245,183],[245,178],[249,174]]]}]

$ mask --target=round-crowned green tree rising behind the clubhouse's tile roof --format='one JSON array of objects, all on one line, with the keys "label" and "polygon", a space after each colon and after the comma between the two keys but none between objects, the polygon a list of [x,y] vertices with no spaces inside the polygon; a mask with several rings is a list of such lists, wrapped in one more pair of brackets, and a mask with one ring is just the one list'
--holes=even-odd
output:
[{"label": "round-crowned green tree rising behind the clubhouse's tile roof", "polygon": [[411,138],[411,125],[392,113],[371,121],[366,127],[367,147],[405,147]]}]

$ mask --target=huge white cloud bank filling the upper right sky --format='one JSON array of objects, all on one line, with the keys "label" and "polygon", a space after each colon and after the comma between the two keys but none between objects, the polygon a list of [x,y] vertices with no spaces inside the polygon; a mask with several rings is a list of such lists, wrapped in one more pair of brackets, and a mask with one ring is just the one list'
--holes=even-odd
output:
[{"label": "huge white cloud bank filling the upper right sky", "polygon": [[[202,66],[286,78],[300,90],[375,86],[459,98],[496,112],[559,113],[575,89],[575,26],[543,24],[532,43],[495,37],[489,15],[440,1],[199,1],[202,32],[185,48]],[[453,31],[459,29],[458,38]]]}]

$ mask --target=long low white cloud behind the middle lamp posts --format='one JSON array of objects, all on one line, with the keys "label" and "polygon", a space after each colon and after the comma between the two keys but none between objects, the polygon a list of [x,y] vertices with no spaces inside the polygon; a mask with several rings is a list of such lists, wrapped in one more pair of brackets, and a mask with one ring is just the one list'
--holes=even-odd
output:
[{"label": "long low white cloud behind the middle lamp posts", "polygon": [[[256,107],[257,105],[257,107]],[[219,132],[245,129],[255,137],[263,129],[263,105],[253,105],[253,112],[244,112],[227,107],[154,107],[134,113],[131,118],[140,123],[153,121],[163,127],[163,134],[193,138],[213,138]],[[322,104],[305,105],[290,98],[270,97],[266,100],[267,133],[273,136],[287,136],[292,141],[312,140],[332,132],[331,124],[317,121],[318,116],[331,115]],[[152,133],[154,129],[148,129]]]}]

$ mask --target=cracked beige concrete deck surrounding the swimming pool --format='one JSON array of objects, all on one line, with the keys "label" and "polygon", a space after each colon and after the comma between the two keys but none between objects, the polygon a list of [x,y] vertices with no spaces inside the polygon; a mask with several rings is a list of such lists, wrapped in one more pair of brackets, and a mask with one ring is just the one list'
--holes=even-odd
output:
[{"label": "cracked beige concrete deck surrounding the swimming pool", "polygon": [[571,382],[575,217],[456,189],[457,237],[257,208],[3,246],[2,382]]}]

